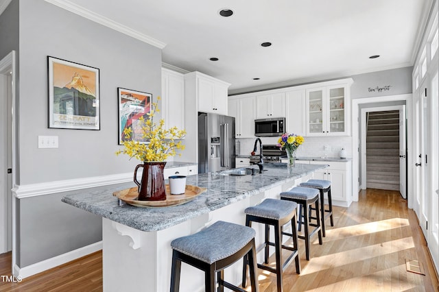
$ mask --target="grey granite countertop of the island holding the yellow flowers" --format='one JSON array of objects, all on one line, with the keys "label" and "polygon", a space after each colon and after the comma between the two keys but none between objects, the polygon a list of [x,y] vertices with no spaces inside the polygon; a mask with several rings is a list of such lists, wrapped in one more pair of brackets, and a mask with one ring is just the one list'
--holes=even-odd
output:
[{"label": "grey granite countertop of the island holding the yellow flowers", "polygon": [[288,173],[285,163],[276,163],[266,164],[264,167],[266,171],[256,175],[231,176],[219,173],[190,175],[187,177],[187,184],[207,188],[207,191],[191,202],[166,208],[139,208],[125,203],[119,204],[119,199],[112,193],[132,188],[136,186],[134,183],[71,192],[62,198],[62,202],[137,230],[150,232],[175,226],[325,167],[327,165],[298,164],[294,167],[294,173]]}]

